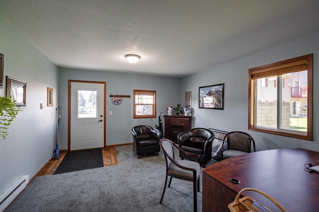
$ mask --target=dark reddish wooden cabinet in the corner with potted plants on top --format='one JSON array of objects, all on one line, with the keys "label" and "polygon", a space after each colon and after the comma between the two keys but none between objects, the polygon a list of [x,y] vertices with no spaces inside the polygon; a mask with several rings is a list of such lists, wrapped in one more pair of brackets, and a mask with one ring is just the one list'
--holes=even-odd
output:
[{"label": "dark reddish wooden cabinet in the corner with potted plants on top", "polygon": [[191,116],[164,116],[164,137],[177,143],[178,134],[191,129]]}]

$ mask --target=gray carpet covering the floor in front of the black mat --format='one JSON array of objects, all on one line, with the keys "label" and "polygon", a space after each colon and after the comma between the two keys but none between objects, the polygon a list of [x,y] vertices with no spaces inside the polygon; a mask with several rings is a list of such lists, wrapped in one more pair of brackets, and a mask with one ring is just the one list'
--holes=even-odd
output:
[{"label": "gray carpet covering the floor in front of the black mat", "polygon": [[[115,149],[119,165],[36,177],[5,212],[193,211],[192,182],[175,178],[160,204],[165,181],[162,151],[137,159],[132,145]],[[197,208],[202,211],[201,192]]]}]

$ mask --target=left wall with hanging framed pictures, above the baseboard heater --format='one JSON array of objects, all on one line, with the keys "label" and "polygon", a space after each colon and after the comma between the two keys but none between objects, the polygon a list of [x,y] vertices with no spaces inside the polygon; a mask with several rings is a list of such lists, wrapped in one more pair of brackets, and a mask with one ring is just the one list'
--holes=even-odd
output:
[{"label": "left wall with hanging framed pictures, above the baseboard heater", "polygon": [[[27,82],[26,107],[0,138],[0,194],[22,175],[33,177],[52,157],[55,107],[58,104],[58,68],[0,17],[0,52],[5,76]],[[53,88],[54,106],[47,107],[47,87]],[[40,103],[44,108],[40,110]]]}]

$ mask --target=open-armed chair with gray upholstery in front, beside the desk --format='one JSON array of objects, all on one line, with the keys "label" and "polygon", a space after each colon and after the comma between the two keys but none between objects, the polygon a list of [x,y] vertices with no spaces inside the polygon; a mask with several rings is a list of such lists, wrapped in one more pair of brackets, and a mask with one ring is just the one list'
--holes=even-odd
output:
[{"label": "open-armed chair with gray upholstery in front, beside the desk", "polygon": [[[199,175],[200,175],[200,165],[198,163],[199,155],[194,153],[188,153],[180,149],[174,142],[168,139],[161,139],[160,146],[165,155],[166,161],[166,178],[165,185],[163,189],[163,193],[160,198],[160,204],[163,201],[166,185],[167,185],[167,177],[170,176],[168,188],[170,187],[171,179],[178,178],[182,180],[192,181],[193,182],[193,193],[194,193],[194,212],[197,211],[197,192],[200,190],[199,185]],[[174,148],[183,152],[185,155],[191,156],[195,158],[195,161],[189,160],[175,160]],[[197,190],[197,192],[196,192]]]}]

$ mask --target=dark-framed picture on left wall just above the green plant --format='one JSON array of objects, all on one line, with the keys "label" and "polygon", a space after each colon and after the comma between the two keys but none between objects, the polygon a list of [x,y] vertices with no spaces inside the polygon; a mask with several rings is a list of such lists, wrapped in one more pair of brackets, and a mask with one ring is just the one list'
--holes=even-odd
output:
[{"label": "dark-framed picture on left wall just above the green plant", "polygon": [[6,96],[16,100],[16,106],[26,106],[26,82],[6,76]]}]

